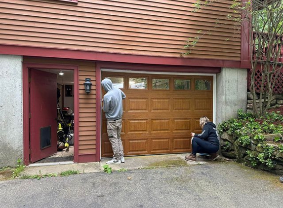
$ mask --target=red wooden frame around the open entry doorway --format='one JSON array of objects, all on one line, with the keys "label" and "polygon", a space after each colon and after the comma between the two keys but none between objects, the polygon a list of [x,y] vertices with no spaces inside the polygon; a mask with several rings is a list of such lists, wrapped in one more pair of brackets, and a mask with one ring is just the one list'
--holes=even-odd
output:
[{"label": "red wooden frame around the open entry doorway", "polygon": [[29,154],[29,68],[34,69],[58,69],[74,70],[74,162],[78,161],[79,156],[79,67],[77,65],[60,65],[44,63],[23,63],[23,153],[24,164],[30,164]]}]

